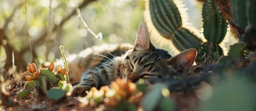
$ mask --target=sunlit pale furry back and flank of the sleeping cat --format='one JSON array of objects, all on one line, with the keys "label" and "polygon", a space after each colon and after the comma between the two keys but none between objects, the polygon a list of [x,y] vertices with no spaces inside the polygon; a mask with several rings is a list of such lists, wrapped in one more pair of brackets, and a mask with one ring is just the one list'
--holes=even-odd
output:
[{"label": "sunlit pale furry back and flank of the sleeping cat", "polygon": [[[105,61],[110,61],[108,58],[113,59],[113,56],[122,56],[130,49],[133,49],[133,45],[129,43],[103,44],[86,48],[79,54],[67,56],[69,81],[72,84],[80,82],[83,73],[90,68],[97,67]],[[57,60],[55,64],[56,66],[63,66],[63,62],[64,61],[61,59]],[[57,71],[57,67],[55,67],[55,71]]]}]

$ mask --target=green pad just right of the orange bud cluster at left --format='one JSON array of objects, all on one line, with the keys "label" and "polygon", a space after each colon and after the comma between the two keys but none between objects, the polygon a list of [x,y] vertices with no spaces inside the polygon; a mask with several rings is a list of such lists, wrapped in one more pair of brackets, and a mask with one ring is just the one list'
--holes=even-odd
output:
[{"label": "green pad just right of the orange bud cluster at left", "polygon": [[52,81],[55,85],[57,84],[58,79],[52,71],[48,69],[40,69],[40,73],[41,76],[46,77],[47,82]]}]

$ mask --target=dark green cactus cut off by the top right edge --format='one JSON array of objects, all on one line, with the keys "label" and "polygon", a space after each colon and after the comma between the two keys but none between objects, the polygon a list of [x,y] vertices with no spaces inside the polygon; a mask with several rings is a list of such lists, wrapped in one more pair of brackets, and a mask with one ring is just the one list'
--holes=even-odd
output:
[{"label": "dark green cactus cut off by the top right edge", "polygon": [[238,38],[245,46],[256,50],[256,0],[231,0]]}]

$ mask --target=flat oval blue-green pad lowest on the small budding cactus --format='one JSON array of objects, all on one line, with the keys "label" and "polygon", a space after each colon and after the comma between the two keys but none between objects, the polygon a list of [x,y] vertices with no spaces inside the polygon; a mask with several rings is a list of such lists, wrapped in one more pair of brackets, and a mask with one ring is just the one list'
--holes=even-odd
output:
[{"label": "flat oval blue-green pad lowest on the small budding cactus", "polygon": [[66,92],[59,88],[51,88],[48,93],[47,97],[50,99],[58,100],[65,96]]}]

